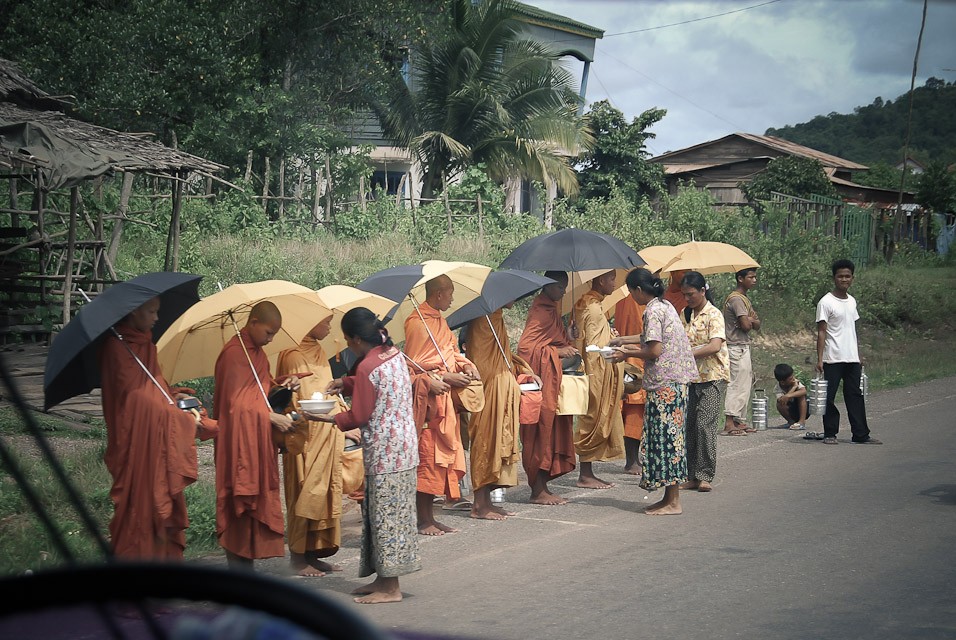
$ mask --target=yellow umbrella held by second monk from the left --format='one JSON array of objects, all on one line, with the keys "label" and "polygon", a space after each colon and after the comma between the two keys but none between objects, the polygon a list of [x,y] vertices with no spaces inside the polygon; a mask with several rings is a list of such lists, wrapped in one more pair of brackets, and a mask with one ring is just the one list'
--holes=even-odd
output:
[{"label": "yellow umbrella held by second monk from the left", "polygon": [[245,326],[256,303],[269,300],[282,314],[282,329],[264,351],[274,355],[301,342],[332,310],[316,292],[285,280],[235,284],[203,298],[170,325],[156,343],[159,366],[170,384],[213,375],[223,346]]}]

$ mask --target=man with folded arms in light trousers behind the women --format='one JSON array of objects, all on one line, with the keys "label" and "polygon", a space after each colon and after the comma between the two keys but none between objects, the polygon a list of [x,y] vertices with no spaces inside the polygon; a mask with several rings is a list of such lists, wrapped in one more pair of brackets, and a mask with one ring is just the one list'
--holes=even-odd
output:
[{"label": "man with folded arms in light trousers behind the women", "polygon": [[724,325],[727,328],[727,351],[730,354],[730,383],[724,400],[722,436],[745,436],[756,429],[747,424],[747,405],[754,384],[750,360],[750,332],[760,329],[760,318],[747,293],[757,286],[757,269],[741,269],[736,274],[737,288],[724,301]]}]

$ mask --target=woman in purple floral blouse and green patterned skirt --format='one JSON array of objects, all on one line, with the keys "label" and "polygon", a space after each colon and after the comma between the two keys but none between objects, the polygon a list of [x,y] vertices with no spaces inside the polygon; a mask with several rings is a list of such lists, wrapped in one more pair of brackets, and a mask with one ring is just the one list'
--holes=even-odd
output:
[{"label": "woman in purple floral blouse and green patterned skirt", "polygon": [[644,510],[648,515],[679,515],[680,484],[687,481],[684,445],[684,412],[687,384],[697,379],[697,365],[690,342],[674,306],[663,299],[664,283],[643,268],[627,274],[627,289],[644,309],[644,333],[611,340],[619,346],[614,360],[644,360],[644,473],[641,487],[654,491],[664,487],[664,497]]}]

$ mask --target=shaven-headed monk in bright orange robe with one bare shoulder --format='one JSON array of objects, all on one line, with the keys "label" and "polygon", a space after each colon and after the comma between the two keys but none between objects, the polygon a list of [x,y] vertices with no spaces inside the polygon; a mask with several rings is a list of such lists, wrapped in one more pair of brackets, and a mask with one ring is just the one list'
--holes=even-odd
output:
[{"label": "shaven-headed monk in bright orange robe with one bare shoulder", "polygon": [[445,496],[450,505],[461,500],[458,483],[467,467],[451,389],[480,379],[478,368],[459,351],[458,340],[442,315],[451,307],[454,294],[451,278],[432,278],[425,283],[425,301],[405,320],[405,355],[411,360],[412,404],[419,430],[418,532],[427,536],[458,531],[435,519],[434,496]]}]

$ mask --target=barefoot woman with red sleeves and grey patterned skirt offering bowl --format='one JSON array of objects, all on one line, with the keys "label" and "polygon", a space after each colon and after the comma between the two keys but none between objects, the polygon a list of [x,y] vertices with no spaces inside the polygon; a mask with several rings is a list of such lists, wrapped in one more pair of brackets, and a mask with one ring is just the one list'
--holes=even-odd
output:
[{"label": "barefoot woman with red sleeves and grey patterned skirt offering bowl", "polygon": [[376,574],[355,591],[362,604],[398,602],[398,577],[421,569],[415,487],[418,436],[412,418],[412,384],[402,352],[382,322],[364,307],[342,317],[346,344],[358,357],[355,375],[333,380],[328,393],[352,397],[352,408],[334,416],[310,414],[343,431],[362,430],[365,499],[359,575]]}]

